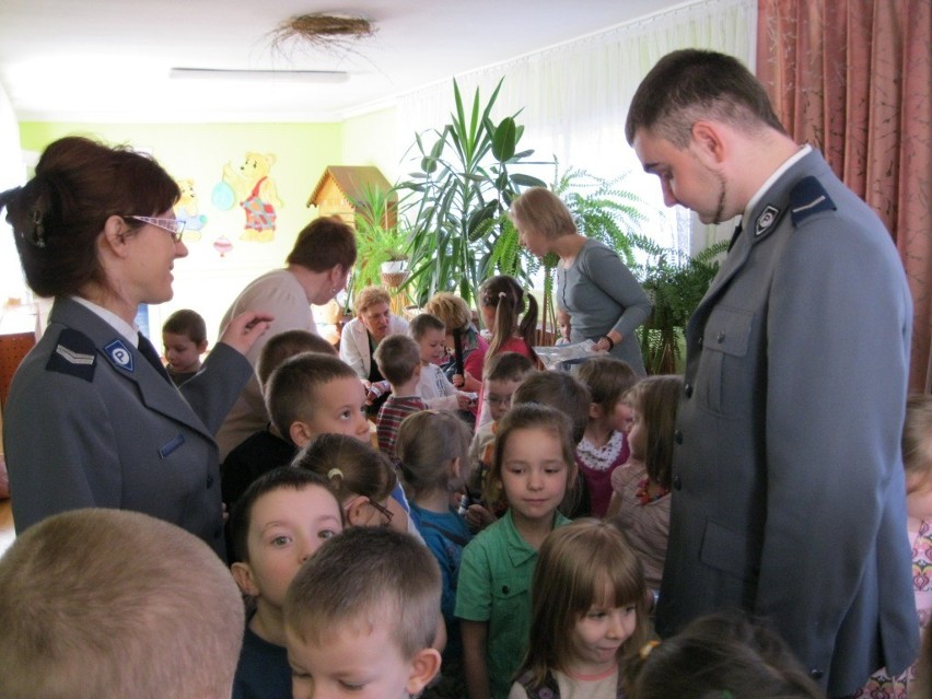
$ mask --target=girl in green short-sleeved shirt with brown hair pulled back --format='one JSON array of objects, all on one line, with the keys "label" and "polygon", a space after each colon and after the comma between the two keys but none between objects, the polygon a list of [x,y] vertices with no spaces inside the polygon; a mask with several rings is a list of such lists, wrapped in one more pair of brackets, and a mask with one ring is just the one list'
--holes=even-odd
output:
[{"label": "girl in green short-sleeved shirt with brown hair pulled back", "polygon": [[500,422],[487,485],[504,491],[509,510],[464,549],[456,591],[469,697],[508,697],[527,650],[537,550],[569,523],[557,508],[576,477],[573,452],[559,410],[517,405]]}]

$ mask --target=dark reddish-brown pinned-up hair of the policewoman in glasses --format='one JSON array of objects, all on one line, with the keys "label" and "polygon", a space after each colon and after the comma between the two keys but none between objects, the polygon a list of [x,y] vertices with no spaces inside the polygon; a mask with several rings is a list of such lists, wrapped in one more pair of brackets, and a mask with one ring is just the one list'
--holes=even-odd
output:
[{"label": "dark reddish-brown pinned-up hair of the policewoman in glasses", "polygon": [[154,159],[69,136],[49,144],[35,177],[0,195],[30,288],[39,296],[75,295],[89,282],[109,289],[97,236],[112,215],[159,215],[180,190]]}]

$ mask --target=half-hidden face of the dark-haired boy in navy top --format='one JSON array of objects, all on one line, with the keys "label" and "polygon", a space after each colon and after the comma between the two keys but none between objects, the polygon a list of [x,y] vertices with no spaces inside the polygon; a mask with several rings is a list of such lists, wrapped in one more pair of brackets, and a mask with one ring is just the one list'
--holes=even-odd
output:
[{"label": "half-hidden face of the dark-haired boy in navy top", "polygon": [[337,499],[322,486],[260,496],[249,513],[249,562],[233,563],[240,587],[280,609],[301,564],[342,531],[340,514]]}]

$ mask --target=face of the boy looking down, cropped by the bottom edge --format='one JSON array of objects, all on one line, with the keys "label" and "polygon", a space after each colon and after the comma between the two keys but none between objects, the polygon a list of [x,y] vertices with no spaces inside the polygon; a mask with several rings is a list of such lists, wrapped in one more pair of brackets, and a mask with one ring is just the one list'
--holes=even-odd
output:
[{"label": "face of the boy looking down, cropped by the bottom edge", "polygon": [[436,651],[424,649],[406,661],[388,629],[388,619],[382,615],[374,627],[342,624],[314,642],[303,641],[286,624],[294,699],[408,699],[418,694],[436,673],[422,667],[422,655]]}]

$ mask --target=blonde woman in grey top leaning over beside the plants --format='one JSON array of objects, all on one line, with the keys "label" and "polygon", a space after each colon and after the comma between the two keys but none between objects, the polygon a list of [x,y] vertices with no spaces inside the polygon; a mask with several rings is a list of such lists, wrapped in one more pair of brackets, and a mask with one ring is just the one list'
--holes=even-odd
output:
[{"label": "blonde woman in grey top leaning over beside the plants", "polygon": [[571,318],[570,339],[591,339],[595,349],[645,374],[634,329],[651,313],[651,302],[615,251],[579,234],[557,195],[532,187],[512,202],[511,218],[521,244],[537,257],[556,253],[557,305]]}]

